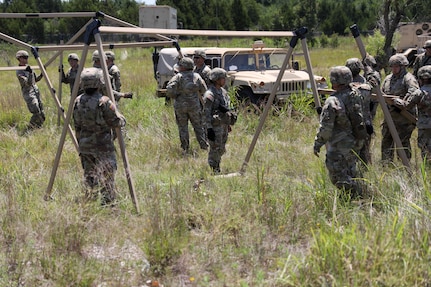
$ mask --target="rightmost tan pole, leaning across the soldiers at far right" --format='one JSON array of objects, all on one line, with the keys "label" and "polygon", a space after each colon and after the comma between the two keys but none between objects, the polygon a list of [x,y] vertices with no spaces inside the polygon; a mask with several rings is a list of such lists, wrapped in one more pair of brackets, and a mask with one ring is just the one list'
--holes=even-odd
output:
[{"label": "rightmost tan pole, leaning across the soldiers at far right", "polygon": [[[365,50],[364,43],[362,42],[362,39],[360,37],[361,35],[359,33],[358,26],[356,24],[350,26],[350,31],[352,32],[352,35],[356,40],[356,45],[359,48],[359,52],[361,53],[361,57],[365,58],[365,56],[367,55],[367,51]],[[388,127],[389,127],[389,131],[390,131],[392,138],[395,142],[395,145],[397,147],[398,155],[400,156],[401,161],[403,162],[404,166],[407,168],[410,168],[410,161],[407,158],[406,151],[403,148],[403,145],[401,143],[401,139],[400,139],[398,132],[397,132],[397,129],[395,127],[394,121],[392,120],[389,109],[386,106],[386,102],[385,102],[385,99],[383,97],[382,90],[380,89],[380,87],[378,87],[376,90],[377,90],[377,99],[379,101],[380,107],[382,108],[383,115],[384,115],[386,123],[388,124]]]}]

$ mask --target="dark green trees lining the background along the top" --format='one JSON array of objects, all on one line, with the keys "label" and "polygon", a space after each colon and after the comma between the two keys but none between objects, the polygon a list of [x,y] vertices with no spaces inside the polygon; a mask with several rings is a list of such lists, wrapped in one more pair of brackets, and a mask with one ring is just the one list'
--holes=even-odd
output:
[{"label": "dark green trees lining the background along the top", "polygon": [[[135,0],[4,0],[2,13],[102,11],[138,25]],[[295,30],[306,26],[325,35],[346,35],[356,23],[361,31],[392,33],[399,21],[430,20],[431,2],[419,0],[157,0],[177,9],[184,29]],[[382,15],[381,17],[379,15]],[[0,19],[1,32],[25,41],[55,42],[75,34],[88,19]],[[392,40],[389,34],[388,41]]]}]

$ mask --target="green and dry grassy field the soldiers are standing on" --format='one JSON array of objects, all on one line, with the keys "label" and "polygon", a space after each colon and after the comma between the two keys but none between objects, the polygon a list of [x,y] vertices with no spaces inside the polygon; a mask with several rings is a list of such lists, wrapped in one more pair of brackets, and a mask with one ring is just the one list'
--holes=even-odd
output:
[{"label": "green and dry grassy field the soldiers are standing on", "polygon": [[[0,65],[8,57],[13,64],[17,48],[3,50]],[[373,164],[364,174],[370,189],[361,202],[340,200],[324,150],[313,155],[318,118],[301,100],[267,118],[243,176],[214,177],[193,134],[193,155],[181,155],[173,109],[154,97],[152,49],[115,52],[123,90],[135,93],[120,109],[141,213],[120,154],[118,205],[82,200],[82,169],[69,136],[54,200],[43,200],[62,132],[54,100],[40,82],[47,121],[22,135],[30,114],[15,73],[1,72],[0,286],[430,286],[430,181],[416,131],[411,172],[400,162],[381,166],[379,109]],[[41,54],[42,61],[49,56]],[[327,76],[359,52],[346,38],[310,56],[314,73]],[[59,90],[57,68],[47,69]],[[68,86],[62,90],[67,109]],[[240,112],[222,172],[239,171],[258,123]]]}]

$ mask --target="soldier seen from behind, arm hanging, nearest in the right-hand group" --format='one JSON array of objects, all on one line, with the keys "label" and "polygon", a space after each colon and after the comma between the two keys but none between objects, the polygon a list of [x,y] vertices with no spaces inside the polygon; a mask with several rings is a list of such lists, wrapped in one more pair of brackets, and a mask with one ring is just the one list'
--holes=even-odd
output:
[{"label": "soldier seen from behind, arm hanging, nearest in the right-hand group", "polygon": [[331,182],[352,197],[361,196],[362,184],[356,180],[357,142],[366,135],[360,92],[352,87],[352,73],[345,66],[330,71],[335,93],[325,101],[320,127],[314,140],[314,154],[326,144],[326,167]]}]

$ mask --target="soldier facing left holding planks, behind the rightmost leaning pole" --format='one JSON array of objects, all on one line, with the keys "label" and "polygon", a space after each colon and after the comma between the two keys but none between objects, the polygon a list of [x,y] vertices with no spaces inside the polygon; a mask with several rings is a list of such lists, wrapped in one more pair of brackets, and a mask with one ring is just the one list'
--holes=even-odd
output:
[{"label": "soldier facing left holding planks, behind the rightmost leaning pole", "polygon": [[[401,99],[408,99],[410,96],[415,96],[420,93],[419,84],[415,77],[406,70],[409,64],[407,58],[403,54],[395,54],[389,58],[388,62],[392,73],[386,76],[382,84],[382,92],[387,95],[399,96]],[[415,123],[412,123],[400,113],[400,109],[396,106],[389,105],[394,125],[401,139],[401,144],[406,151],[407,158],[411,158],[410,137],[415,129]],[[411,107],[407,110],[412,115],[417,115],[416,107]],[[382,125],[382,161],[384,164],[394,160],[394,140],[389,131],[386,120]]]}]

